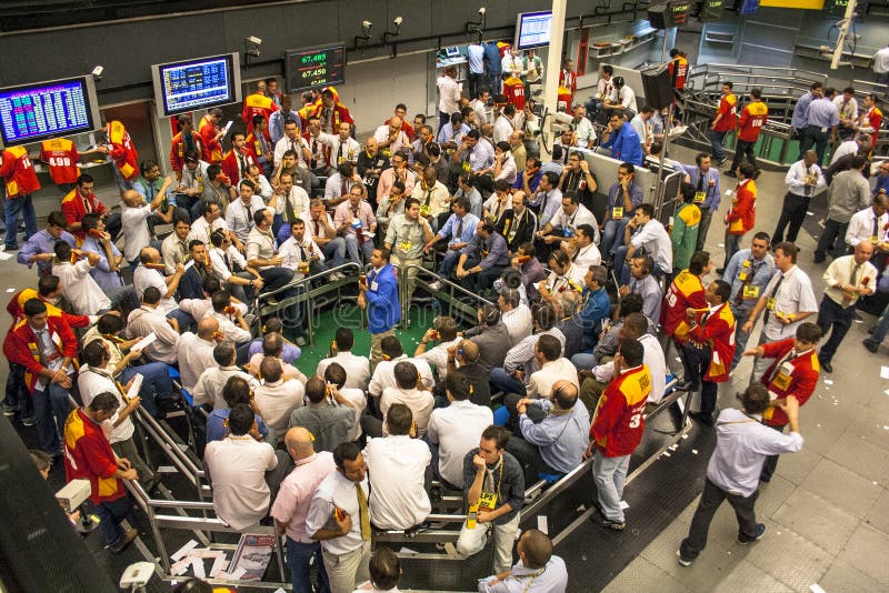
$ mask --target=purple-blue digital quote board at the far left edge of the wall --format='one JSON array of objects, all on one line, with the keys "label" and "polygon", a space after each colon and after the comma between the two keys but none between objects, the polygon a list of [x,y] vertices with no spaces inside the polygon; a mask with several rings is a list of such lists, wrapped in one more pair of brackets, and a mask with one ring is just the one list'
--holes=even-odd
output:
[{"label": "purple-blue digital quote board at the far left edge of the wall", "polygon": [[3,145],[90,132],[99,122],[92,77],[0,89]]}]

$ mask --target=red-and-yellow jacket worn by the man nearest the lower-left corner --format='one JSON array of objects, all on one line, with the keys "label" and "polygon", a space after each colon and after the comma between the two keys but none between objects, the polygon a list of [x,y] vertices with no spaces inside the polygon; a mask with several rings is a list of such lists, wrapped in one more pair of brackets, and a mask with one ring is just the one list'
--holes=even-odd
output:
[{"label": "red-and-yellow jacket worn by the man nearest the lower-left corner", "polygon": [[93,504],[116,501],[127,495],[123,481],[116,478],[117,458],[102,428],[78,408],[64,421],[64,475],[90,481]]}]

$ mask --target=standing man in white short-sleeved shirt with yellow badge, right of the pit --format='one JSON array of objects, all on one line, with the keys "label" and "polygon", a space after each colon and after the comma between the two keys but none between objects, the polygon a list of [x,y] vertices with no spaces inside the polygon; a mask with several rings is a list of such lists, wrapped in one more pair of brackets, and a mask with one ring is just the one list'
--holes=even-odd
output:
[{"label": "standing man in white short-sleeved shirt with yellow badge, right of the pit", "polygon": [[[812,282],[797,267],[797,245],[789,242],[775,245],[775,267],[778,269],[759,301],[743,322],[741,331],[749,334],[762,311],[762,330],[759,344],[778,342],[796,334],[797,328],[809,316],[818,313],[818,301],[815,299]],[[758,380],[773,361],[759,358],[753,364],[751,381]]]}]

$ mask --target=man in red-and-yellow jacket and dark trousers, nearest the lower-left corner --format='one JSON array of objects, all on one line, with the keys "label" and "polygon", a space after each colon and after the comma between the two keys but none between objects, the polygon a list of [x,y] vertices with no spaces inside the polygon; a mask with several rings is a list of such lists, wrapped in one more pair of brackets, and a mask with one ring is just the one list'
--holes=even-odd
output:
[{"label": "man in red-and-yellow jacket and dark trousers, nearest the lower-left corner", "polygon": [[139,531],[123,531],[120,522],[130,511],[130,497],[123,480],[139,478],[129,460],[118,458],[102,432],[102,423],[118,411],[111,393],[100,393],[87,408],[73,410],[64,422],[64,474],[68,481],[89,480],[90,501],[99,515],[99,531],[106,544],[118,553],[136,539]]}]

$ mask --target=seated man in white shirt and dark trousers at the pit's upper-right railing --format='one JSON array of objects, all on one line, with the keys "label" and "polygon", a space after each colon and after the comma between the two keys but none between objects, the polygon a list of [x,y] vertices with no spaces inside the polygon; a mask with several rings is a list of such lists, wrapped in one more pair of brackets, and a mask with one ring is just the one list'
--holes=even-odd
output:
[{"label": "seated man in white shirt and dark trousers at the pit's upper-right railing", "polygon": [[640,204],[633,212],[632,220],[623,229],[623,244],[615,254],[615,272],[620,284],[629,284],[630,267],[633,253],[645,249],[646,253],[655,260],[656,277],[672,272],[673,243],[663,224],[655,218],[655,207],[649,203]]}]

